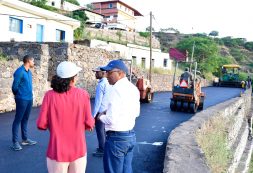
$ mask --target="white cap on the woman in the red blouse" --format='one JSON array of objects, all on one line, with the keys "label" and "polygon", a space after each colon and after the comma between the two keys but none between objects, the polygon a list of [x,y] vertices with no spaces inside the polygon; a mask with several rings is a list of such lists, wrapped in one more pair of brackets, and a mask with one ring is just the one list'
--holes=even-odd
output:
[{"label": "white cap on the woman in the red blouse", "polygon": [[60,78],[70,78],[75,76],[81,70],[82,68],[76,66],[73,62],[63,61],[57,66],[56,74]]}]

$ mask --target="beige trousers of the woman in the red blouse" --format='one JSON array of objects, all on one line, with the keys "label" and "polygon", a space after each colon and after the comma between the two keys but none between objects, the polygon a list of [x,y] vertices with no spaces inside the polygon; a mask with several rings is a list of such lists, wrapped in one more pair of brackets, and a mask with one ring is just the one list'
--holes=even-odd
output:
[{"label": "beige trousers of the woman in the red blouse", "polygon": [[47,157],[48,173],[85,173],[87,155],[73,162],[57,162]]}]

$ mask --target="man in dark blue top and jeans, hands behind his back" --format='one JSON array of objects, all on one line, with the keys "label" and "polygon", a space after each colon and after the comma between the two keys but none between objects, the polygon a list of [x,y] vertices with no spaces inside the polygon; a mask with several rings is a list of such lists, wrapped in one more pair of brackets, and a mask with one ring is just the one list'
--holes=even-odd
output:
[{"label": "man in dark blue top and jeans, hands behind his back", "polygon": [[33,57],[26,55],[23,58],[24,64],[14,73],[12,92],[16,102],[16,114],[12,124],[12,149],[15,151],[22,150],[18,142],[18,129],[21,124],[21,145],[34,145],[37,142],[28,139],[27,124],[33,104],[32,93],[32,73],[30,68],[34,67]]}]

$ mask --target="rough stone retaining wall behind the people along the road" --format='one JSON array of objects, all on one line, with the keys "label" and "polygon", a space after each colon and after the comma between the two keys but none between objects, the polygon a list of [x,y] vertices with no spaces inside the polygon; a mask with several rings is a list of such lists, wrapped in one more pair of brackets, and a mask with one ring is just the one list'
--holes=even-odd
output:
[{"label": "rough stone retaining wall behind the people along the road", "polygon": [[[68,43],[10,43],[0,42],[0,55],[6,55],[7,60],[0,60],[0,112],[15,109],[11,92],[14,71],[23,64],[22,58],[31,54],[35,59],[33,73],[34,106],[41,104],[44,93],[50,89],[50,80],[55,75],[57,65],[64,61],[73,61],[83,70],[79,73],[77,86],[86,89],[91,97],[95,95],[97,81],[92,69],[106,65],[110,60],[117,59],[118,53],[103,49]],[[139,74],[140,75],[143,74]],[[147,76],[144,74],[144,76]],[[170,91],[173,76],[152,75],[153,90]],[[203,85],[207,82],[203,80]]]}]

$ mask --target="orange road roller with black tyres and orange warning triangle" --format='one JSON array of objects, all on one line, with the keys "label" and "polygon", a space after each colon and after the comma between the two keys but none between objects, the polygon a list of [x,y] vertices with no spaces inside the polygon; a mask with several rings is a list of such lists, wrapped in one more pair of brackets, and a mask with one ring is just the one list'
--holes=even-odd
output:
[{"label": "orange road roller with black tyres and orange warning triangle", "polygon": [[202,110],[204,106],[205,94],[201,91],[201,78],[197,76],[197,62],[181,62],[194,65],[194,74],[192,81],[179,80],[179,84],[175,85],[176,70],[174,71],[172,83],[172,97],[170,101],[170,109],[172,111],[185,111],[195,113]]}]

